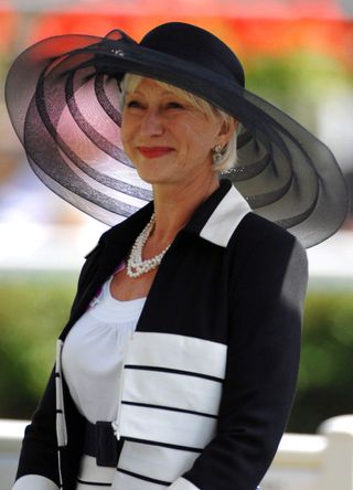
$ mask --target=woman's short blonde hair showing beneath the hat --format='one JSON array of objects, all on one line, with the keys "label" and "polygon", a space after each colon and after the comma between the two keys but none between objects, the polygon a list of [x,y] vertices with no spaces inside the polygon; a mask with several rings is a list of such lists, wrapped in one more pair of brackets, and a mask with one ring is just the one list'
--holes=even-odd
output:
[{"label": "woman's short blonde hair showing beneath the hat", "polygon": [[[125,95],[127,92],[135,92],[137,87],[140,85],[142,81],[141,75],[135,75],[132,73],[127,73],[124,78],[120,82],[120,90],[121,90],[121,97],[120,97],[120,108],[122,109]],[[194,94],[191,94],[188,90],[184,90],[182,88],[175,87],[174,85],[169,85],[165,82],[160,82],[156,79],[156,83],[160,85],[163,88],[167,88],[171,93],[178,95],[179,97],[185,99],[188,103],[192,104],[197,109],[202,110],[208,118],[213,118],[216,116],[221,117],[221,120],[223,124],[229,125],[234,118],[229,116],[228,114],[224,113],[223,110],[218,109],[217,107],[212,106],[210,103],[204,100],[201,97],[197,97]],[[218,159],[216,163],[213,163],[212,169],[215,172],[223,172],[225,170],[232,169],[236,163],[236,131],[234,131],[234,135],[229,142],[223,148],[222,150],[222,157]]]}]

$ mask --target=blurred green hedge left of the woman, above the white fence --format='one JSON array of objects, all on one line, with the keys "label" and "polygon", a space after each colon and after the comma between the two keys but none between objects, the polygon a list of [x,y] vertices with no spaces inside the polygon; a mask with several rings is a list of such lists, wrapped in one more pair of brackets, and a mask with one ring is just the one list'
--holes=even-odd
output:
[{"label": "blurred green hedge left of the woman, above the white fence", "polygon": [[29,418],[55,359],[74,281],[24,277],[0,284],[0,418]]}]

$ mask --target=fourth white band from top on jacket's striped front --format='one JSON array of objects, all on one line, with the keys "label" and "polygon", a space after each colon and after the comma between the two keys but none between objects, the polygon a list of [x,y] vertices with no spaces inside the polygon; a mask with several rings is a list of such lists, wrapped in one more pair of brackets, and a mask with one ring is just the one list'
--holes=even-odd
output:
[{"label": "fourth white band from top on jacket's striped front", "polygon": [[197,452],[126,440],[119,468],[161,481],[174,481],[192,467],[199,456]]}]

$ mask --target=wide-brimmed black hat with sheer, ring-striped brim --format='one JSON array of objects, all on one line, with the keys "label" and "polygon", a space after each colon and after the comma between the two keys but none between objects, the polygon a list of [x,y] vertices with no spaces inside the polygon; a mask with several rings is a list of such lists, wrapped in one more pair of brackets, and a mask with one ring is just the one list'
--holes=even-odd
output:
[{"label": "wide-brimmed black hat with sheer, ring-striped brim", "polygon": [[12,124],[34,172],[65,201],[111,225],[152,199],[120,141],[117,81],[127,72],[184,88],[240,122],[237,161],[224,177],[256,213],[307,247],[341,226],[347,194],[332,152],[244,88],[243,67],[220,39],[180,22],[140,43],[119,30],[50,38],[14,61],[6,84]]}]

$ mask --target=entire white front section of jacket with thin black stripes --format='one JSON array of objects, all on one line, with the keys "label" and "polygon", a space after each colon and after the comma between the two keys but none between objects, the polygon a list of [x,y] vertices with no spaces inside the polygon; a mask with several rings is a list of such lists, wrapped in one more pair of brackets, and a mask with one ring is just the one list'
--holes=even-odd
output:
[{"label": "entire white front section of jacket with thin black stripes", "polygon": [[192,467],[216,434],[226,353],[218,342],[135,332],[116,420],[126,439],[117,488],[162,490]]}]

